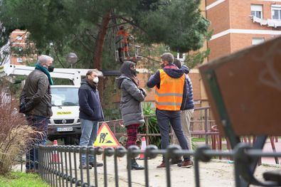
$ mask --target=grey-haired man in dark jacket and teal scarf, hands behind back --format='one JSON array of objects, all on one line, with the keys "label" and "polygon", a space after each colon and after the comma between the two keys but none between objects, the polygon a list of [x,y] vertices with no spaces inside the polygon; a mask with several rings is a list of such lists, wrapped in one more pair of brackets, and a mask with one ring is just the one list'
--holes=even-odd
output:
[{"label": "grey-haired man in dark jacket and teal scarf, hands behind back", "polygon": [[[37,172],[38,150],[34,144],[46,144],[48,119],[52,116],[51,87],[53,80],[50,72],[53,71],[53,58],[40,55],[35,70],[26,78],[26,84],[21,92],[19,112],[26,114],[28,124],[36,128],[31,149],[26,153],[26,172]],[[35,154],[34,154],[35,153]]]}]

